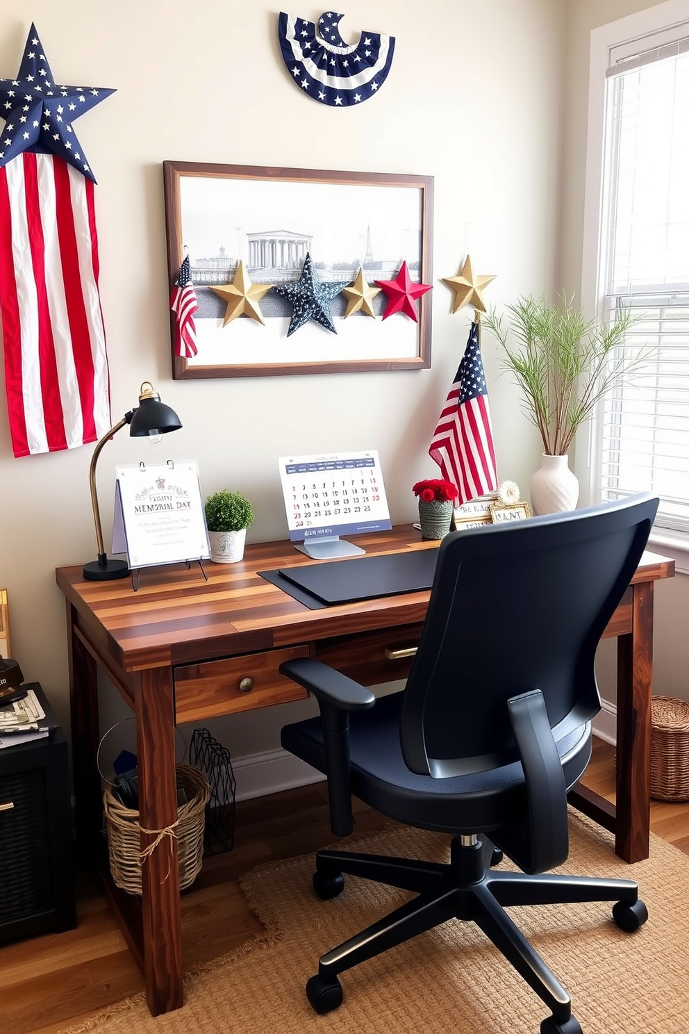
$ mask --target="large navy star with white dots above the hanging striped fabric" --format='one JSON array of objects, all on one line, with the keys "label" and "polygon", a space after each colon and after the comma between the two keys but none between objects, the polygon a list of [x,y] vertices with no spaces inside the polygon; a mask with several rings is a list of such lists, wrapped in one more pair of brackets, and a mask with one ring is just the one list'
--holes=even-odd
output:
[{"label": "large navy star with white dots above the hanging striped fabric", "polygon": [[15,79],[0,79],[0,168],[23,151],[52,152],[95,183],[72,123],[115,90],[59,86],[32,24]]}]

